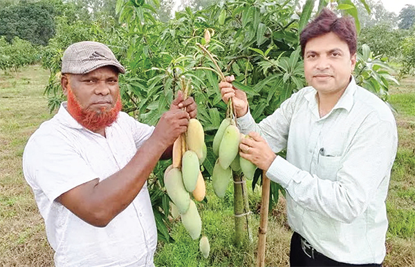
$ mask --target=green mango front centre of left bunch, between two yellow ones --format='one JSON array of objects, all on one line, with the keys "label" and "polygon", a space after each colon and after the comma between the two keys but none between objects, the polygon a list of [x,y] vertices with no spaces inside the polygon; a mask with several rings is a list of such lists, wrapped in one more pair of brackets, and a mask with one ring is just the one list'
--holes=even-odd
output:
[{"label": "green mango front centre of left bunch, between two yellow ones", "polygon": [[193,192],[199,177],[199,159],[196,152],[187,150],[182,159],[183,184],[187,192]]}]

